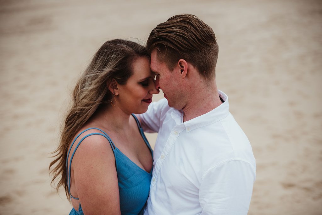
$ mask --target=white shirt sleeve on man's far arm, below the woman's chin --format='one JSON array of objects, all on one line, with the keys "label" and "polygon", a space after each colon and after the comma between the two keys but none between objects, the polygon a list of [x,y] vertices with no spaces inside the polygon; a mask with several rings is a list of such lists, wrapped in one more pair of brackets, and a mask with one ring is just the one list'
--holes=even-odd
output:
[{"label": "white shirt sleeve on man's far arm, below the woman's chin", "polygon": [[147,112],[139,115],[143,130],[148,133],[158,132],[162,124],[162,116],[169,108],[168,101],[165,98],[152,102]]}]

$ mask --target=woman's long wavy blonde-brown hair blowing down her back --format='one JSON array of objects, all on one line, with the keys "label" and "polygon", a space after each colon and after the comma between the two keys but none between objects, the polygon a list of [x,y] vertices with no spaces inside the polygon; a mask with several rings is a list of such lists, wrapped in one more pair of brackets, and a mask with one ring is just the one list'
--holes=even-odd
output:
[{"label": "woman's long wavy blonde-brown hair blowing down her back", "polygon": [[109,103],[113,94],[108,85],[113,79],[126,84],[132,75],[132,63],[138,57],[147,56],[146,48],[136,42],[115,39],[105,42],[83,72],[72,93],[72,104],[61,128],[60,144],[52,152],[55,158],[49,165],[53,176],[51,184],[58,180],[56,189],[63,186],[70,198],[66,181],[67,151],[74,136],[95,113],[99,106]]}]

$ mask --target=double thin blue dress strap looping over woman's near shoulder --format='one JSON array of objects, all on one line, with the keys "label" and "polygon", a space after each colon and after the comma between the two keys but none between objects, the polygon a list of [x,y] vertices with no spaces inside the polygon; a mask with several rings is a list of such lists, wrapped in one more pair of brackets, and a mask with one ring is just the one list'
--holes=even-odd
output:
[{"label": "double thin blue dress strap looping over woman's near shoulder", "polygon": [[[69,154],[70,154],[70,152],[71,152],[71,148],[72,148],[72,146],[74,145],[74,143],[75,143],[76,139],[77,139],[81,134],[83,134],[85,131],[88,131],[88,130],[90,130],[90,129],[97,129],[97,130],[99,130],[99,131],[103,132],[104,134],[102,134],[102,133],[91,133],[91,134],[88,134],[88,135],[84,136],[83,138],[81,138],[80,142],[76,145],[76,147],[75,147],[75,149],[74,149],[73,153],[71,154],[71,159],[70,159],[70,162],[69,162],[69,168],[67,168],[67,167],[68,167],[68,157],[69,157]],[[88,136],[92,136],[92,135],[101,135],[101,136],[105,137],[105,138],[109,141],[109,144],[111,145],[113,152],[114,152],[114,149],[116,148],[116,147],[115,147],[115,145],[113,144],[113,142],[112,142],[111,138],[109,138],[109,136],[108,136],[104,131],[102,131],[102,130],[101,130],[101,129],[99,129],[99,128],[94,128],[94,127],[93,127],[93,128],[85,129],[85,130],[84,130],[84,131],[82,131],[79,135],[77,135],[77,136],[75,137],[74,141],[72,142],[72,144],[71,144],[71,146],[70,146],[70,148],[69,148],[69,150],[68,150],[67,159],[66,159],[66,168],[67,168],[67,178],[66,178],[66,179],[67,179],[67,183],[68,183],[68,192],[69,192],[69,194],[70,194],[70,195],[71,195],[71,161],[72,161],[72,159],[73,159],[73,157],[74,157],[74,154],[75,154],[75,152],[76,152],[76,150],[77,150],[78,146],[81,144],[81,142],[82,142],[86,137],[88,137]],[[75,197],[73,197],[72,195],[71,195],[71,198],[76,199],[76,200],[79,200],[79,198],[75,198]]]}]

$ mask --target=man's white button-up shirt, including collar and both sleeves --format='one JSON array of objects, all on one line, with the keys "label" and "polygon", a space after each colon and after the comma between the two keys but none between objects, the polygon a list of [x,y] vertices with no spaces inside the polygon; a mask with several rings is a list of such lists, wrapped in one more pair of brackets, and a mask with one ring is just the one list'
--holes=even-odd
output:
[{"label": "man's white button-up shirt, including collar and both sleeves", "polygon": [[255,158],[219,95],[223,104],[186,122],[166,99],[140,115],[145,131],[158,132],[145,214],[247,214]]}]

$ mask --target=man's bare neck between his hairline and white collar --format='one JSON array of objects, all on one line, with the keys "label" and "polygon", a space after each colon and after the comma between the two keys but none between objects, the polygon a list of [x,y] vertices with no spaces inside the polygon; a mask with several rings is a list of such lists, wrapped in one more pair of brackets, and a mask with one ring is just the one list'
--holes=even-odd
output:
[{"label": "man's bare neck between his hairline and white collar", "polygon": [[199,89],[194,91],[182,109],[184,112],[184,122],[204,115],[222,104],[215,82],[210,86],[199,86]]}]

